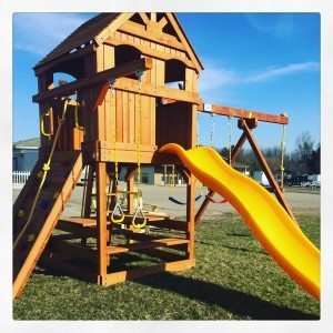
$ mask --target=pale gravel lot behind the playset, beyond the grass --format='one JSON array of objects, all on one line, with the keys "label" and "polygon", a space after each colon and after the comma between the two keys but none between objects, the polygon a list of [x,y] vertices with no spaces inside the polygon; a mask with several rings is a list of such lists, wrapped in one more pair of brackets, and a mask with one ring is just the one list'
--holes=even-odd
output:
[{"label": "pale gravel lot behind the playset, beyond the grass", "polygon": [[[120,182],[120,186],[124,186],[125,184]],[[158,211],[165,212],[171,216],[181,216],[185,215],[185,206],[178,205],[168,200],[170,195],[169,186],[161,185],[145,185],[141,184],[140,189],[143,193],[143,202],[149,205],[158,205]],[[82,186],[77,186],[72,193],[72,196],[67,204],[63,215],[80,215],[81,212],[81,198],[82,198]],[[18,196],[20,190],[13,189],[13,200]],[[206,194],[206,190],[203,189],[203,194]],[[199,193],[199,191],[198,191]],[[293,212],[295,214],[299,213],[307,213],[307,214],[319,214],[320,213],[320,194],[317,193],[296,193],[296,192],[286,192],[286,200],[291,205]],[[175,186],[173,189],[173,196],[179,200],[185,199],[185,188],[184,186]],[[216,195],[219,199],[219,195]],[[203,198],[196,202],[196,208],[202,203]],[[235,210],[229,204],[209,204],[204,216],[213,216],[219,215],[222,212],[235,212]]]}]

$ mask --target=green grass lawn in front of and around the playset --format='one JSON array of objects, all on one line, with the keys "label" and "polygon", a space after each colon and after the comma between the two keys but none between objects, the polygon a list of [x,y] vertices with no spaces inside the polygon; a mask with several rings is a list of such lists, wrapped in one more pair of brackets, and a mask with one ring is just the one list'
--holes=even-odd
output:
[{"label": "green grass lawn in front of and around the playset", "polygon": [[[320,216],[297,215],[320,246]],[[234,213],[196,228],[196,266],[100,287],[37,271],[14,320],[317,320],[320,303],[273,262]]]}]

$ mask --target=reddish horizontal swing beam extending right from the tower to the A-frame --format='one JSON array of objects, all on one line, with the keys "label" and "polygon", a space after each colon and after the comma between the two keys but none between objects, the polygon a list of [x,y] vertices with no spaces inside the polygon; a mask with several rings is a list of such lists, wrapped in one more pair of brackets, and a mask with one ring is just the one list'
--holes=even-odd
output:
[{"label": "reddish horizontal swing beam extending right from the tower to the A-frame", "polygon": [[256,112],[245,109],[236,109],[236,108],[230,108],[219,104],[208,104],[201,102],[198,105],[198,111],[200,112],[206,112],[206,113],[215,113],[215,114],[222,114],[222,115],[230,115],[234,118],[249,118],[249,119],[256,119],[258,121],[264,121],[264,122],[272,122],[272,123],[281,123],[281,124],[287,124],[289,117],[281,113],[280,115],[276,114],[269,114],[263,112]]}]

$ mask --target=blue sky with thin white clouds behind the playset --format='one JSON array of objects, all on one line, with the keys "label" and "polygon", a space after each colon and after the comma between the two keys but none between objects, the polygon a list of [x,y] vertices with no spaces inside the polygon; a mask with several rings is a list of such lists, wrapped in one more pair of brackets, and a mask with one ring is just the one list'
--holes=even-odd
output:
[{"label": "blue sky with thin white clouds behind the playset", "polygon": [[[39,137],[38,92],[32,67],[95,13],[13,14],[13,141]],[[178,13],[203,63],[199,93],[208,103],[287,113],[286,150],[305,131],[320,142],[320,14]],[[211,120],[200,114],[200,143],[210,143]],[[232,144],[236,120],[214,118],[214,145]],[[280,145],[282,127],[260,123],[262,148]]]}]

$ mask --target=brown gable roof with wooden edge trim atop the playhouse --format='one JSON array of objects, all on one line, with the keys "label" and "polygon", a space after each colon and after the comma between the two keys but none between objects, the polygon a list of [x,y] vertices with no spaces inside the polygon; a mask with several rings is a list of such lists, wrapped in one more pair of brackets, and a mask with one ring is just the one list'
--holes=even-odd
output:
[{"label": "brown gable roof with wooden edge trim atop the playhouse", "polygon": [[[48,53],[34,69],[40,68],[48,62],[60,58],[73,50],[80,48],[81,46],[87,46],[93,42],[95,46],[102,44],[114,31],[117,31],[123,23],[125,23],[134,13],[101,13],[91,20],[81,24],[77,30],[74,30],[68,38],[65,38],[61,43],[59,43],[50,53]],[[141,14],[140,14],[141,16]],[[142,14],[143,20],[147,23],[145,14]],[[165,19],[167,18],[167,19]],[[174,13],[165,13],[163,20],[168,20],[168,23],[172,26],[175,31],[178,39],[184,46],[186,53],[193,61],[193,64],[198,72],[200,72],[203,67],[195,54],[189,39],[186,38],[180,22],[178,21]]]}]

